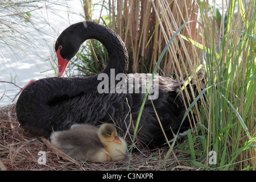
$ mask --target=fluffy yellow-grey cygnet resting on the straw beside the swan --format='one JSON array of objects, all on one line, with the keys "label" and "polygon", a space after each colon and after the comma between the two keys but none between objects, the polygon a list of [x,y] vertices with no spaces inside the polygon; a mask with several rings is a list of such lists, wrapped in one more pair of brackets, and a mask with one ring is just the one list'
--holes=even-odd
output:
[{"label": "fluffy yellow-grey cygnet resting on the straw beside the swan", "polygon": [[117,137],[117,130],[112,124],[96,126],[80,124],[71,129],[56,131],[51,135],[51,143],[73,159],[89,162],[106,162],[123,159],[127,144]]}]

